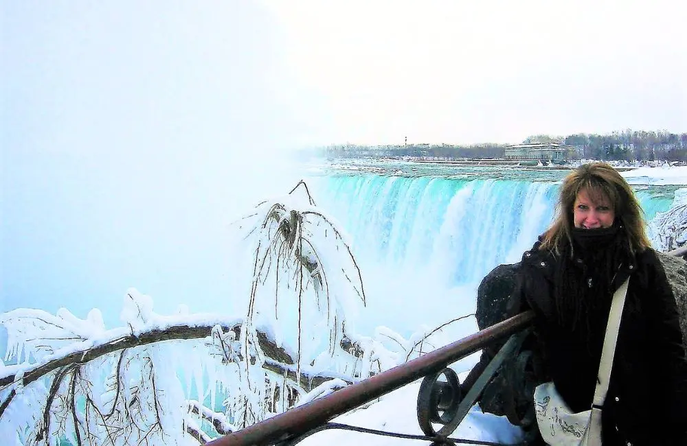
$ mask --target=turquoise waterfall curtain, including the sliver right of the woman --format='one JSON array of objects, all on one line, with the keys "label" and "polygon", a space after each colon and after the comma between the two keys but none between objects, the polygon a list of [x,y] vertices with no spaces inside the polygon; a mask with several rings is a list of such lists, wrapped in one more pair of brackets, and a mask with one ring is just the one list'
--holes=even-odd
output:
[{"label": "turquoise waterfall curtain, including the sliver right of the woman", "polygon": [[[317,204],[352,239],[373,296],[372,325],[393,327],[436,326],[473,311],[482,278],[499,264],[519,261],[552,222],[560,185],[369,172],[314,180]],[[647,219],[672,203],[651,190],[638,190],[637,196]],[[386,305],[374,307],[381,301]],[[402,311],[390,308],[390,301]],[[453,309],[436,314],[438,305]]]}]

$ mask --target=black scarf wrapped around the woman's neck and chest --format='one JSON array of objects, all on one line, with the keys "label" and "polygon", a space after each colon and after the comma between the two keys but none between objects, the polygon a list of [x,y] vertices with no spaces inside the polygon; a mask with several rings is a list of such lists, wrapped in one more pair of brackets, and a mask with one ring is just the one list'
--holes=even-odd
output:
[{"label": "black scarf wrapped around the woman's neck and chest", "polygon": [[[561,329],[583,341],[602,339],[614,280],[629,258],[621,226],[574,228],[556,264],[554,300]],[[596,350],[596,346],[590,346]]]}]

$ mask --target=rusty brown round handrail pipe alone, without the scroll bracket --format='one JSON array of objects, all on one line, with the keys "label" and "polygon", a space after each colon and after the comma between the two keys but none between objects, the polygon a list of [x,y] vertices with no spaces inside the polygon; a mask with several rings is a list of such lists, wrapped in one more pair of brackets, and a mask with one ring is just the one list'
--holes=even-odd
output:
[{"label": "rusty brown round handrail pipe alone, without the scroll bracket", "polygon": [[534,312],[531,310],[518,314],[446,347],[337,390],[326,397],[315,399],[303,406],[292,408],[270,419],[217,438],[207,445],[271,445],[301,436],[327,423],[335,416],[386,395],[416,379],[437,373],[449,364],[525,329],[533,320]]}]

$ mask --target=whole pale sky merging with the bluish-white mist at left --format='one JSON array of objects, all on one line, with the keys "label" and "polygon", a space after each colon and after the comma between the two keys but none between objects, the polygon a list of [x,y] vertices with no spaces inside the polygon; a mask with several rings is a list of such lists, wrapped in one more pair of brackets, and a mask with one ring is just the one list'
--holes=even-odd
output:
[{"label": "whole pale sky merging with the bluish-white mist at left", "polygon": [[0,309],[229,295],[289,149],[687,131],[682,2],[561,3],[0,0]]}]

